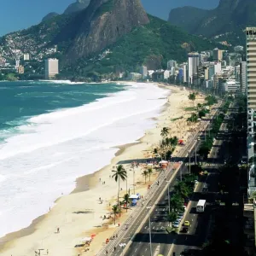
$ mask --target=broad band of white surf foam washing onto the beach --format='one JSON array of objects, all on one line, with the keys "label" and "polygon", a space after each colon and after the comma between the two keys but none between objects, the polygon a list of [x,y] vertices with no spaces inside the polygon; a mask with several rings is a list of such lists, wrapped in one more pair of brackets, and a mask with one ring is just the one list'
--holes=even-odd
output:
[{"label": "broad band of white surf foam washing onto the beach", "polygon": [[168,91],[153,84],[128,88],[33,117],[0,145],[0,236],[31,224],[74,189],[76,177],[108,165],[118,150],[112,147],[135,142],[154,125],[149,118],[159,113]]}]

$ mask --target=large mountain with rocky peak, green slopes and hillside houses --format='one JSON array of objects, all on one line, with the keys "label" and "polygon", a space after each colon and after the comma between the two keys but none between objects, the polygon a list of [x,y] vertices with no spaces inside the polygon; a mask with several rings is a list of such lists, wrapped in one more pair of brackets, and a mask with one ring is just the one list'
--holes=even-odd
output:
[{"label": "large mountain with rocky peak, green slopes and hillside houses", "polygon": [[216,47],[144,11],[140,0],[91,0],[70,15],[57,15],[26,30],[0,38],[0,55],[8,61],[30,53],[30,66],[44,73],[44,59],[57,57],[61,75],[104,75],[116,71],[166,68],[185,61],[191,50]]}]

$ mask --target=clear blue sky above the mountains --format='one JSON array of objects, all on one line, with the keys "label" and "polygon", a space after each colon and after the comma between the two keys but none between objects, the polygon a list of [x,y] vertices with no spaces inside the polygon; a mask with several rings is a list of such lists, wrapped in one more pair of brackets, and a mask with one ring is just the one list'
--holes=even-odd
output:
[{"label": "clear blue sky above the mountains", "polygon": [[[203,9],[217,7],[219,0],[141,0],[150,15],[167,20],[173,8],[191,5]],[[0,35],[38,24],[49,12],[62,13],[75,0],[2,0]]]}]

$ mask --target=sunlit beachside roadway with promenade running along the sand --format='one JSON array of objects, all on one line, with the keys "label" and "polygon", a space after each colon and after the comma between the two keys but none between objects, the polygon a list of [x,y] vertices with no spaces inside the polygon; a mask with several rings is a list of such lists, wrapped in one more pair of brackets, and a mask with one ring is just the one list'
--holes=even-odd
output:
[{"label": "sunlit beachside roadway with promenade running along the sand", "polygon": [[[219,104],[215,112],[212,113],[212,116],[214,116],[218,112],[218,107]],[[187,143],[183,150],[177,155],[177,158],[186,159],[188,157],[189,151],[193,153],[193,150],[195,150],[195,145],[197,147],[197,144],[200,143],[197,141],[197,137],[200,135],[199,130],[201,129],[201,131],[203,132],[206,131],[210,123],[211,120],[201,122],[201,127],[197,131],[195,131],[195,134],[192,136],[189,143]],[[160,208],[158,206],[160,205],[159,203],[166,201],[168,185],[173,187],[175,183],[175,177],[177,177],[177,173],[182,173],[187,170],[187,167],[183,164],[183,162],[176,170],[172,169],[172,166],[173,163],[169,164],[166,173],[162,172],[162,174],[152,184],[151,189],[148,191],[148,194],[144,197],[143,201],[138,204],[136,209],[131,212],[130,218],[128,218],[125,224],[120,227],[119,232],[117,233],[118,238],[115,240],[110,240],[108,245],[103,247],[102,250],[97,253],[97,255],[150,255],[148,242],[143,242],[144,240],[148,241],[149,239],[148,211],[150,211],[149,213],[152,216],[152,212],[166,211],[165,207]],[[170,181],[171,183],[166,183],[166,180]],[[199,189],[201,189],[201,186],[199,186]],[[148,209],[148,207],[150,207],[150,209]],[[156,233],[166,235],[165,227],[166,224],[159,222],[157,224],[154,224],[151,229],[155,230]],[[141,234],[142,237],[137,244],[136,240],[138,233]],[[160,240],[152,244],[152,251],[154,252],[160,247],[160,250],[165,251],[164,255],[166,256],[167,253],[169,253],[169,251],[171,250],[172,241],[170,241],[170,237],[168,237],[168,241],[163,241],[161,239],[163,237],[161,236],[158,237],[160,237]],[[135,247],[133,253],[131,252],[132,247]],[[163,249],[161,247],[163,247]]]}]

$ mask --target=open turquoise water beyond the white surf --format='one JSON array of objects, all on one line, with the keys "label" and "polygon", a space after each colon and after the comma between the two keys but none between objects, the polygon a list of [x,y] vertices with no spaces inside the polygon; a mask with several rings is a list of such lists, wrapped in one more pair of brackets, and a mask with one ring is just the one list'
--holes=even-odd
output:
[{"label": "open turquoise water beyond the white surf", "polygon": [[0,142],[18,131],[26,119],[59,108],[79,107],[109,93],[125,90],[116,84],[71,84],[66,81],[0,83]]}]

